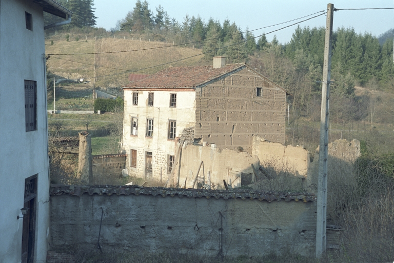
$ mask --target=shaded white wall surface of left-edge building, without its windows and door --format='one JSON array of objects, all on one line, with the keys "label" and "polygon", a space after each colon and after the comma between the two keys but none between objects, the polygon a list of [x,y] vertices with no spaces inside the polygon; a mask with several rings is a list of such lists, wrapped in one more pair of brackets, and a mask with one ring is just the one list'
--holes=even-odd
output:
[{"label": "shaded white wall surface of left-edge building, without its windows and door", "polygon": [[[33,30],[26,29],[25,11]],[[25,178],[38,174],[36,262],[45,262],[49,233],[48,139],[43,10],[33,1],[0,2],[0,262],[20,262]],[[25,131],[24,80],[37,82],[37,130]]]}]

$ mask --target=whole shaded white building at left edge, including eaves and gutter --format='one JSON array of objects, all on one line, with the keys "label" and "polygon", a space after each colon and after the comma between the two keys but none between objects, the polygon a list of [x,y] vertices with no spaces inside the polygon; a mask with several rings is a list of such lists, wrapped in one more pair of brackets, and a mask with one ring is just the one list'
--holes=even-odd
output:
[{"label": "whole shaded white building at left edge, including eaves and gutter", "polygon": [[[44,13],[67,19],[44,25]],[[0,262],[45,262],[49,160],[44,30],[71,22],[53,0],[0,2]]]}]

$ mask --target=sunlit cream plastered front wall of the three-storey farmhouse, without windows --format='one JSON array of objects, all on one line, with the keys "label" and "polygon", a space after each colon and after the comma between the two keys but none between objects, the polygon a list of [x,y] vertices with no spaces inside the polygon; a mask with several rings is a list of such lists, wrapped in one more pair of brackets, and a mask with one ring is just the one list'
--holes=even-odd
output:
[{"label": "sunlit cream plastered front wall of the three-storey farmhouse, without windows", "polygon": [[[153,176],[167,178],[167,155],[174,155],[174,140],[168,139],[169,119],[176,120],[176,136],[183,129],[195,124],[195,91],[137,91],[138,105],[132,105],[133,91],[125,90],[125,109],[123,118],[123,149],[128,154],[129,175],[143,177],[145,152],[153,153]],[[148,93],[154,93],[153,107],[148,106]],[[176,108],[170,108],[170,93],[176,93]],[[131,117],[138,117],[138,135],[131,134]],[[153,118],[153,137],[146,137],[146,119]],[[130,149],[137,150],[137,167],[130,167]]]}]

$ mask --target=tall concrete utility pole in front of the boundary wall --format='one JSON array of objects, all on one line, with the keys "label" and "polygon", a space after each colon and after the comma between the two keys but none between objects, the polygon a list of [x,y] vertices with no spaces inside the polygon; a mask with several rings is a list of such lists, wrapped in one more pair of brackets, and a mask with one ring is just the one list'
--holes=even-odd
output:
[{"label": "tall concrete utility pole in front of the boundary wall", "polygon": [[328,159],[328,104],[331,80],[331,36],[334,5],[327,5],[326,36],[324,41],[324,64],[322,79],[322,108],[320,113],[318,208],[316,222],[316,257],[326,251],[327,228],[327,159]]}]

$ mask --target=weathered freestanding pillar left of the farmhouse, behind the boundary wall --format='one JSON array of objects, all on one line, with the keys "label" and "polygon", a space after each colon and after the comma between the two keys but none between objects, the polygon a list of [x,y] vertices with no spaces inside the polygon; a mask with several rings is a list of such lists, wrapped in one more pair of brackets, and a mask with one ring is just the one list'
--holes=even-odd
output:
[{"label": "weathered freestanding pillar left of the farmhouse, behind the boundary wall", "polygon": [[88,132],[80,132],[80,152],[78,156],[78,176],[83,184],[93,184],[92,139]]}]

